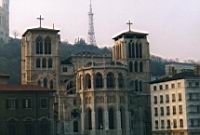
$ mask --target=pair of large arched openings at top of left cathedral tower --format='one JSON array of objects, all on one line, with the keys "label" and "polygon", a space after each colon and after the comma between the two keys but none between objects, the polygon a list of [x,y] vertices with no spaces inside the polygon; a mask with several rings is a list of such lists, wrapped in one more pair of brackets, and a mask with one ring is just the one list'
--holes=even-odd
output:
[{"label": "pair of large arched openings at top of left cathedral tower", "polygon": [[36,38],[36,54],[51,54],[51,38],[46,37],[42,38],[41,36],[38,36]]}]

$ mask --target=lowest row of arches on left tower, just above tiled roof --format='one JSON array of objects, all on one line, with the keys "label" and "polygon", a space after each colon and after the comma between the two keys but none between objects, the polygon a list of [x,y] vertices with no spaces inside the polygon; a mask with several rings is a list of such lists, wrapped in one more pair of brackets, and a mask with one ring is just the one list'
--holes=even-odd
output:
[{"label": "lowest row of arches on left tower, just above tiled roof", "polygon": [[50,88],[53,89],[54,88],[54,81],[53,79],[48,79],[47,77],[43,78],[43,79],[39,79],[37,81],[38,86],[44,87],[44,88]]}]

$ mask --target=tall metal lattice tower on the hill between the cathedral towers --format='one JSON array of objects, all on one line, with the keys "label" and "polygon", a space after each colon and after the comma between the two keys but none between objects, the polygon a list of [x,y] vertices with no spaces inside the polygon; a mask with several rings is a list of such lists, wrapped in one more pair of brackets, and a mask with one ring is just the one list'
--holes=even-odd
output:
[{"label": "tall metal lattice tower on the hill between the cathedral towers", "polygon": [[89,16],[89,29],[88,29],[88,43],[90,45],[96,46],[96,39],[95,39],[95,32],[94,32],[94,19],[93,19],[93,12],[92,12],[92,3],[90,0],[90,11],[88,12]]}]

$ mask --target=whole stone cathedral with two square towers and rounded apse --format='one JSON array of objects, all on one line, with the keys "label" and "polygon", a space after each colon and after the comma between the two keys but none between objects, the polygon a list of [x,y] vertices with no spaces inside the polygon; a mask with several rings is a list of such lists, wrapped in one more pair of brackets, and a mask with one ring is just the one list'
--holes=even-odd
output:
[{"label": "whole stone cathedral with two square towers and rounded apse", "polygon": [[22,84],[57,91],[57,135],[151,135],[147,35],[116,35],[112,57],[83,51],[61,61],[58,30],[23,34]]}]

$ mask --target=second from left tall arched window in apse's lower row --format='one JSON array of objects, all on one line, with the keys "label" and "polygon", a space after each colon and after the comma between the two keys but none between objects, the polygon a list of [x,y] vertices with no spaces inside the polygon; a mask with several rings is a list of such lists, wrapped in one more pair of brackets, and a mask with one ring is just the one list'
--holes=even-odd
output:
[{"label": "second from left tall arched window in apse's lower row", "polygon": [[97,109],[97,128],[98,129],[104,128],[104,115],[103,115],[103,109],[102,108]]}]

